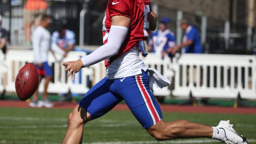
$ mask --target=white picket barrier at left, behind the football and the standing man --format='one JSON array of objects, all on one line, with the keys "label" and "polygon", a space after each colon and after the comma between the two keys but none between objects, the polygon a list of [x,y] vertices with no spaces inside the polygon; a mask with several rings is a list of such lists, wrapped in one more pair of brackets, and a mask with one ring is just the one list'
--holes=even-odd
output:
[{"label": "white picket barrier at left, behind the football and the standing man", "polygon": [[[63,61],[77,60],[82,56],[85,56],[84,52],[70,52]],[[92,75],[92,70],[89,68],[82,69],[75,77],[73,82],[71,78],[67,78],[67,74],[64,71],[65,67],[61,66],[59,60],[60,55],[54,56],[49,52],[48,63],[53,67],[54,75],[53,80],[49,83],[48,92],[49,93],[67,93],[69,90],[74,93],[85,93],[89,90],[87,86],[87,76]],[[2,77],[1,79],[6,79],[6,85],[3,87],[6,91],[15,91],[14,82],[15,76],[19,72],[19,69],[26,63],[33,62],[33,51],[31,50],[9,50],[6,54],[6,60],[1,67],[7,68],[7,78]],[[0,74],[1,76],[1,74]],[[81,80],[80,80],[81,79]],[[1,80],[2,81],[2,80]],[[44,82],[44,79],[42,80]],[[1,83],[0,83],[1,84]],[[1,85],[0,85],[1,87]],[[42,92],[44,85],[40,85],[39,91]]]}]

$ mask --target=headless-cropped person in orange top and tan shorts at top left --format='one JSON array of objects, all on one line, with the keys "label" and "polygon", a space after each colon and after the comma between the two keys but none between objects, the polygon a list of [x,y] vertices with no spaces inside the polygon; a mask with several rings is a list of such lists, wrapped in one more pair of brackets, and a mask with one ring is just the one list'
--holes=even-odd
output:
[{"label": "headless-cropped person in orange top and tan shorts at top left", "polygon": [[34,23],[35,29],[40,25],[42,15],[46,14],[47,2],[45,0],[27,0],[24,5],[24,32],[26,46],[30,45],[31,27]]}]

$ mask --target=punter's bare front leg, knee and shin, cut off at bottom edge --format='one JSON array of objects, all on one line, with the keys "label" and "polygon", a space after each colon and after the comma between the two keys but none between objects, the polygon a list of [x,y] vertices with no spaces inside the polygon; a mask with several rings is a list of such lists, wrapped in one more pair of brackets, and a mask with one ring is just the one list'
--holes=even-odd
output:
[{"label": "punter's bare front leg, knee and shin, cut off at bottom edge", "polygon": [[92,120],[91,115],[80,106],[76,105],[69,114],[68,128],[62,144],[80,144],[83,138],[83,126]]}]

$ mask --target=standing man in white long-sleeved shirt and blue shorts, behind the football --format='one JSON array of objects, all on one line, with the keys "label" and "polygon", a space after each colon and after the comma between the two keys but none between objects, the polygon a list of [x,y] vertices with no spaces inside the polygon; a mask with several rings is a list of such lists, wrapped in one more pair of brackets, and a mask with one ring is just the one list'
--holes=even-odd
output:
[{"label": "standing man in white long-sleeved shirt and blue shorts, behind the football", "polygon": [[[47,88],[52,79],[52,69],[48,65],[48,52],[50,50],[51,34],[47,30],[52,23],[50,16],[43,16],[41,25],[38,26],[32,33],[32,47],[34,51],[34,62],[36,64],[39,75],[39,84],[42,78],[45,78],[45,87],[43,92],[43,100],[38,100],[38,88],[33,95],[32,101],[29,103],[32,107],[53,107],[53,103],[47,99]],[[53,49],[55,52],[63,54],[66,53],[61,49]]]}]

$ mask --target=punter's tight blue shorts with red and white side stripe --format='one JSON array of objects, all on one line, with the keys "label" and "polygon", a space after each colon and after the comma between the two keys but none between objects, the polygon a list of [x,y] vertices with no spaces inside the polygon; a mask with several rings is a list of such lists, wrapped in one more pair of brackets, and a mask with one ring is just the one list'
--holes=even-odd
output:
[{"label": "punter's tight blue shorts with red and white side stripe", "polygon": [[148,87],[148,74],[110,80],[103,78],[78,103],[96,119],[124,100],[143,128],[149,128],[162,119],[155,97]]}]

